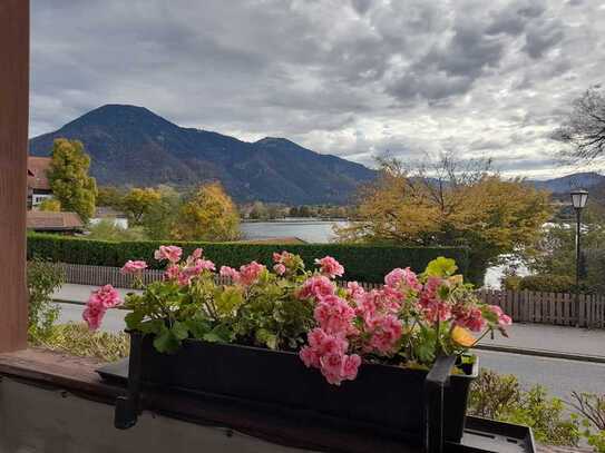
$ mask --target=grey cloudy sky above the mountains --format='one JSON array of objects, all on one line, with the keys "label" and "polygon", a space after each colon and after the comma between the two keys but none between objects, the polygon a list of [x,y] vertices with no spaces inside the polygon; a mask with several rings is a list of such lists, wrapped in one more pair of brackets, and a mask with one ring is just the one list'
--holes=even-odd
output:
[{"label": "grey cloudy sky above the mountains", "polygon": [[30,135],[104,104],[372,165],[492,157],[550,177],[605,82],[596,0],[32,0]]}]

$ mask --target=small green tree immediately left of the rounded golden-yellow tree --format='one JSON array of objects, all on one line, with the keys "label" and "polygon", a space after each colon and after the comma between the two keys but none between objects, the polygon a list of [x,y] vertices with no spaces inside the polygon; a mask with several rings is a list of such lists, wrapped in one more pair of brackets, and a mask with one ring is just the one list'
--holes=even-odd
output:
[{"label": "small green tree immediately left of the rounded golden-yellow tree", "polygon": [[172,239],[180,209],[180,195],[170,186],[158,186],[156,190],[159,201],[145,213],[142,226],[149,239]]}]

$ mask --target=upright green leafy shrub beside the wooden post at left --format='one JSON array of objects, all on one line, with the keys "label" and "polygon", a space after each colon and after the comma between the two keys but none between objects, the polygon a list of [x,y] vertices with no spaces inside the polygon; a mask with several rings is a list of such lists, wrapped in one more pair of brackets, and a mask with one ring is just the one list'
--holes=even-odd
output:
[{"label": "upright green leafy shrub beside the wooden post at left", "polygon": [[51,302],[52,293],[65,282],[62,269],[39,257],[27,265],[29,292],[28,334],[30,341],[40,341],[50,335],[60,308]]}]

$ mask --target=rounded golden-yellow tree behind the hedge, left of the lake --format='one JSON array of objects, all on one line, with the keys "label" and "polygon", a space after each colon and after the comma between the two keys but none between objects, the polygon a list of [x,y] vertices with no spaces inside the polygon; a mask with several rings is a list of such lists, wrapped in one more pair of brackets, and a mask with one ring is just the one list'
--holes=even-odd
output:
[{"label": "rounded golden-yellow tree behind the hedge, left of the lake", "polygon": [[183,240],[235,240],[240,237],[240,214],[221,183],[201,186],[183,205],[175,227]]}]

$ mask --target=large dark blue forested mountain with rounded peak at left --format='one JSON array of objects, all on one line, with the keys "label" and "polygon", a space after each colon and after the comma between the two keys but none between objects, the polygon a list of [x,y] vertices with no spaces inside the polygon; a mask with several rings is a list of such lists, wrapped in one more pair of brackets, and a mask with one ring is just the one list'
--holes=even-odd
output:
[{"label": "large dark blue forested mountain with rounded peak at left", "polygon": [[238,201],[348,203],[375,171],[303,148],[284,138],[246,142],[183,128],[144,107],[106,105],[55,132],[29,140],[32,156],[49,156],[52,141],[84,142],[100,185],[193,186],[221,180]]}]

